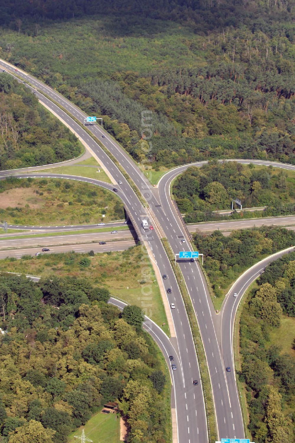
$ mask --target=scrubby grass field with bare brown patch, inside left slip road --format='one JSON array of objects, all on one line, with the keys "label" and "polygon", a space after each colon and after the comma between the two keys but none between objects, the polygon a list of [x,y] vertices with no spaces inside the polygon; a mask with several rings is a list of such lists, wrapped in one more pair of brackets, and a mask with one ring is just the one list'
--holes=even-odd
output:
[{"label": "scrubby grass field with bare brown patch, inside left slip road", "polygon": [[0,218],[16,225],[73,225],[119,220],[124,211],[113,192],[90,183],[9,179],[0,183]]}]

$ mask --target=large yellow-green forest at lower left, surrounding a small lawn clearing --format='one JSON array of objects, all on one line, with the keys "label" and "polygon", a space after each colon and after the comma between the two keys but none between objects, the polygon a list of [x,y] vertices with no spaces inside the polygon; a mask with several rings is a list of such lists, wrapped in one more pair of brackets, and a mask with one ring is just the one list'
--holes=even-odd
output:
[{"label": "large yellow-green forest at lower left, surrounding a small lawn clearing", "polygon": [[119,400],[129,442],[166,441],[159,351],[141,309],[109,297],[85,279],[1,274],[1,442],[67,442],[106,400]]}]

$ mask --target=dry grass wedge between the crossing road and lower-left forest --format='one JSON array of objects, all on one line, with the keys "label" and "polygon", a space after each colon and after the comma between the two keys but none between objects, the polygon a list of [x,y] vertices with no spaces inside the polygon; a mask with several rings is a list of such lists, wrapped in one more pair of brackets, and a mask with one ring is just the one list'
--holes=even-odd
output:
[{"label": "dry grass wedge between the crossing road and lower-left forest", "polygon": [[[81,257],[90,258],[88,268],[80,266]],[[108,288],[114,297],[146,309],[155,323],[169,334],[167,319],[153,268],[141,245],[126,251],[99,253],[94,256],[78,253],[25,256],[20,260],[0,260],[0,271],[20,272],[36,276],[69,276],[90,278],[93,285]]]}]

